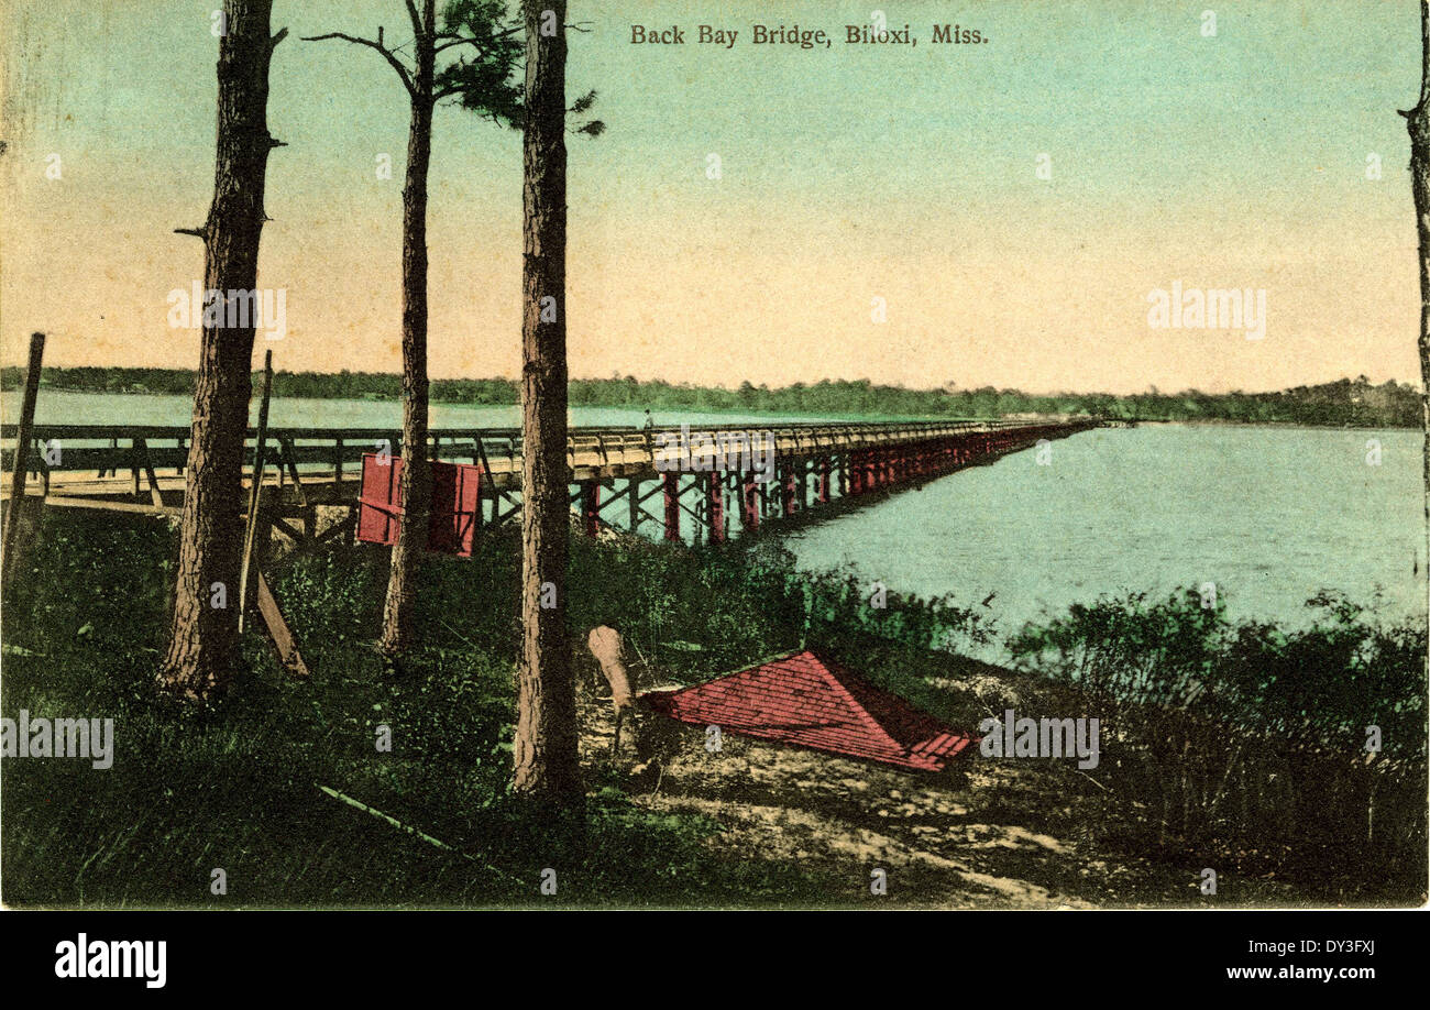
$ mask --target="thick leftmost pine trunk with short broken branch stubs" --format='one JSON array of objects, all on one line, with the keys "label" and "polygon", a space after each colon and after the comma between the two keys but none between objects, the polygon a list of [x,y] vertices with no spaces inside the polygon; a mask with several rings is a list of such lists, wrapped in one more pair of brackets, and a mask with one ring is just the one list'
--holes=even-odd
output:
[{"label": "thick leftmost pine trunk with short broken branch stubs", "polygon": [[226,33],[219,39],[214,192],[200,230],[204,290],[219,292],[222,318],[212,319],[204,306],[172,637],[159,668],[162,687],[200,704],[227,684],[237,662],[243,439],[256,320],[255,312],[235,312],[232,322],[246,325],[226,325],[232,303],[225,296],[242,299],[257,288],[263,183],[276,143],[267,132],[269,62],[286,34],[269,36],[272,6],[225,0]]}]

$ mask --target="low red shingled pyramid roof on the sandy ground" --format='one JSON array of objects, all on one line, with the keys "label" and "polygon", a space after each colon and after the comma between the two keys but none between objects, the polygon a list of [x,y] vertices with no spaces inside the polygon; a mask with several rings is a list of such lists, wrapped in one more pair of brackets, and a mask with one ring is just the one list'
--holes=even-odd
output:
[{"label": "low red shingled pyramid roof on the sandy ground", "polygon": [[811,651],[641,698],[681,722],[917,771],[942,771],[971,742],[897,694]]}]

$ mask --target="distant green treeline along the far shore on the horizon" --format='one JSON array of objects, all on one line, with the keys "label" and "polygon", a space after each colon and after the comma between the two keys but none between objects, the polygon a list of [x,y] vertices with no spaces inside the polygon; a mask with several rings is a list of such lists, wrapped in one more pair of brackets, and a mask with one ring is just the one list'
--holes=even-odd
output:
[{"label": "distant green treeline along the far shore on the horizon", "polygon": [[[0,382],[14,389],[20,368],[6,368]],[[160,368],[46,368],[49,389],[96,393],[193,395],[194,373]],[[255,376],[257,378],[257,376]],[[255,388],[257,388],[255,385]],[[277,372],[273,395],[315,399],[398,399],[402,379],[385,372]],[[432,401],[506,405],[519,402],[512,379],[433,379]],[[1111,393],[1032,395],[1017,389],[905,389],[868,379],[822,381],[769,389],[692,386],[632,376],[573,379],[573,406],[671,411],[848,415],[872,418],[997,418],[1017,413],[1091,413],[1130,421],[1230,421],[1331,425],[1351,428],[1420,426],[1420,392],[1409,385],[1371,385],[1366,376],[1264,393],[1204,393],[1195,389],[1114,396]]]}]

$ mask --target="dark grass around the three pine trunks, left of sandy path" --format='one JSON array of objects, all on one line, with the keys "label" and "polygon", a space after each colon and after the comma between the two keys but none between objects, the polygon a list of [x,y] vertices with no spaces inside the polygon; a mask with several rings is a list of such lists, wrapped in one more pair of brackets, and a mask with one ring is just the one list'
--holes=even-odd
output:
[{"label": "dark grass around the three pine trunks, left of sandy path", "polygon": [[[174,538],[162,522],[47,515],[7,589],[3,711],[114,718],[114,765],[4,761],[4,898],[61,907],[466,907],[815,901],[797,867],[719,853],[718,825],[633,805],[589,781],[583,844],[509,794],[516,558],[433,558],[422,641],[399,680],[370,651],[385,558],[300,557],[276,592],[315,670],[295,682],[263,641],[204,712],[160,698]],[[586,608],[595,607],[588,602]],[[715,649],[712,649],[715,651]],[[392,750],[378,750],[379,727]],[[420,828],[405,834],[327,785]],[[212,893],[213,870],[227,893]],[[539,893],[553,868],[558,891]]]}]

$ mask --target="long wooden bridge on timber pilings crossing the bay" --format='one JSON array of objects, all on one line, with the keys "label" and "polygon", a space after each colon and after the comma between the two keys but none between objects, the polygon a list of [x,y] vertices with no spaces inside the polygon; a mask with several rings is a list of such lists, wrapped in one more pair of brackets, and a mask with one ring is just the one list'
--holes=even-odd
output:
[{"label": "long wooden bridge on timber pilings crossing the bay", "polygon": [[[656,524],[666,539],[681,539],[684,516],[692,539],[724,541],[734,525],[754,531],[766,519],[922,482],[1100,423],[1074,418],[572,428],[571,501],[589,534],[619,511],[632,531]],[[177,515],[189,436],[187,426],[34,425],[24,495],[49,506]],[[0,428],[7,471],[17,438],[16,425]],[[400,456],[403,448],[400,431],[392,428],[267,428],[262,441],[263,511],[296,539],[317,538],[317,509],[332,506],[347,515],[320,538],[350,534],[363,456]],[[250,461],[257,443],[259,433],[250,429]],[[433,429],[426,452],[476,468],[479,495],[469,519],[475,526],[519,515],[519,429]],[[246,466],[246,486],[250,472]],[[7,488],[0,496],[10,495]]]}]

